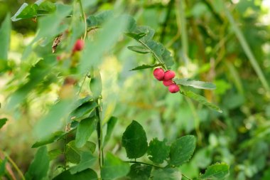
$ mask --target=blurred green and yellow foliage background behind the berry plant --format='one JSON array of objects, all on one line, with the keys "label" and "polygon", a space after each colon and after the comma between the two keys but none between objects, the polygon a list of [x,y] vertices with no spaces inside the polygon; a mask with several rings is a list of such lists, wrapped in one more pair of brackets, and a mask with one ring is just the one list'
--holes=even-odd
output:
[{"label": "blurred green and yellow foliage background behind the berry plant", "polygon": [[[8,12],[15,14],[23,2],[0,0],[0,22]],[[226,162],[230,165],[227,179],[269,180],[270,1],[103,0],[87,15],[113,9],[115,4],[124,6],[138,25],[155,29],[155,40],[173,53],[178,78],[217,85],[214,91],[196,92],[219,105],[223,113],[168,93],[153,78],[151,69],[129,71],[153,59],[128,51],[126,46],[133,41],[120,41],[101,67],[104,117],[114,115],[121,120],[106,150],[124,158],[121,134],[131,120],[137,120],[144,125],[148,139],[158,136],[171,141],[184,134],[198,138],[195,156],[180,168],[190,177],[212,163]],[[36,23],[26,19],[13,22],[12,28],[9,59],[15,62],[14,69],[27,68],[21,53],[33,38]],[[12,71],[0,77],[1,103],[20,83],[9,85],[12,78]],[[43,87],[31,94],[16,114],[0,115],[9,117],[0,132],[0,149],[10,154],[22,171],[27,170],[35,153],[31,129],[54,102],[59,88],[59,82]],[[84,90],[87,93],[87,88]]]}]

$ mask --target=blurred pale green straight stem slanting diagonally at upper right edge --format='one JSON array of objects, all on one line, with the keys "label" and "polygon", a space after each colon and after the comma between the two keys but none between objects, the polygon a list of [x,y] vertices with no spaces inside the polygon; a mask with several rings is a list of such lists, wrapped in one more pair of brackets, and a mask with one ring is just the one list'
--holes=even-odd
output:
[{"label": "blurred pale green straight stem slanting diagonally at upper right edge", "polygon": [[225,3],[223,3],[222,5],[223,5],[223,8],[225,10],[225,15],[229,19],[229,23],[231,24],[231,26],[234,30],[234,33],[237,36],[237,38],[238,38],[238,40],[239,40],[239,42],[244,50],[244,53],[246,53],[247,58],[249,58],[249,61],[252,64],[252,67],[254,68],[255,72],[257,73],[259,80],[261,80],[261,84],[264,86],[265,90],[267,90],[269,92],[270,91],[269,84],[268,84],[268,82],[264,76],[264,73],[262,72],[256,58],[253,55],[253,53],[249,47],[249,44],[247,43],[246,39],[244,38],[242,31],[237,26],[237,23],[234,21],[234,18],[232,17],[232,14],[229,11],[229,9],[227,9]]}]

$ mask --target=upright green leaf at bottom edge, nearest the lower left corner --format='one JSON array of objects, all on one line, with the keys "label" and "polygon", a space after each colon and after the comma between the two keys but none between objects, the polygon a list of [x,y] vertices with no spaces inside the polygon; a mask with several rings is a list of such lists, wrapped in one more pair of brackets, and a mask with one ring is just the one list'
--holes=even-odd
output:
[{"label": "upright green leaf at bottom edge, nearest the lower left corner", "polygon": [[48,156],[47,147],[40,147],[26,172],[26,179],[43,179],[47,177],[49,165],[50,157]]}]

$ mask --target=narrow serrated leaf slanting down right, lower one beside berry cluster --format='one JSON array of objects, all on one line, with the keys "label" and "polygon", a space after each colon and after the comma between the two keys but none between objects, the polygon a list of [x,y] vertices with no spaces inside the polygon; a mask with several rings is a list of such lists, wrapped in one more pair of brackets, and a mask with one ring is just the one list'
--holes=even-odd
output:
[{"label": "narrow serrated leaf slanting down right, lower one beside berry cluster", "polygon": [[217,105],[214,105],[214,104],[208,102],[208,101],[205,99],[205,97],[203,97],[203,96],[201,96],[201,95],[198,95],[198,94],[195,94],[194,92],[192,92],[192,91],[190,91],[190,90],[188,90],[188,91],[183,91],[183,90],[181,90],[180,93],[181,93],[182,95],[185,95],[185,96],[187,96],[187,97],[190,97],[190,98],[193,99],[193,100],[196,100],[196,101],[202,103],[202,105],[206,105],[207,107],[209,107],[209,108],[212,109],[212,110],[215,110],[215,111],[217,111],[217,112],[222,112],[222,110],[220,110],[220,107],[217,107]]}]

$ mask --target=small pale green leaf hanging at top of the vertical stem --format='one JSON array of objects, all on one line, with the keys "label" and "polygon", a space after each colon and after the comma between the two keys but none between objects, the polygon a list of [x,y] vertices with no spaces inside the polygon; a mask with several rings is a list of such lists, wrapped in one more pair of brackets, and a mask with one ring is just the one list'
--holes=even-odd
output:
[{"label": "small pale green leaf hanging at top of the vertical stem", "polygon": [[95,71],[93,75],[91,75],[90,81],[90,90],[94,98],[99,97],[102,93],[102,78],[99,71]]}]

